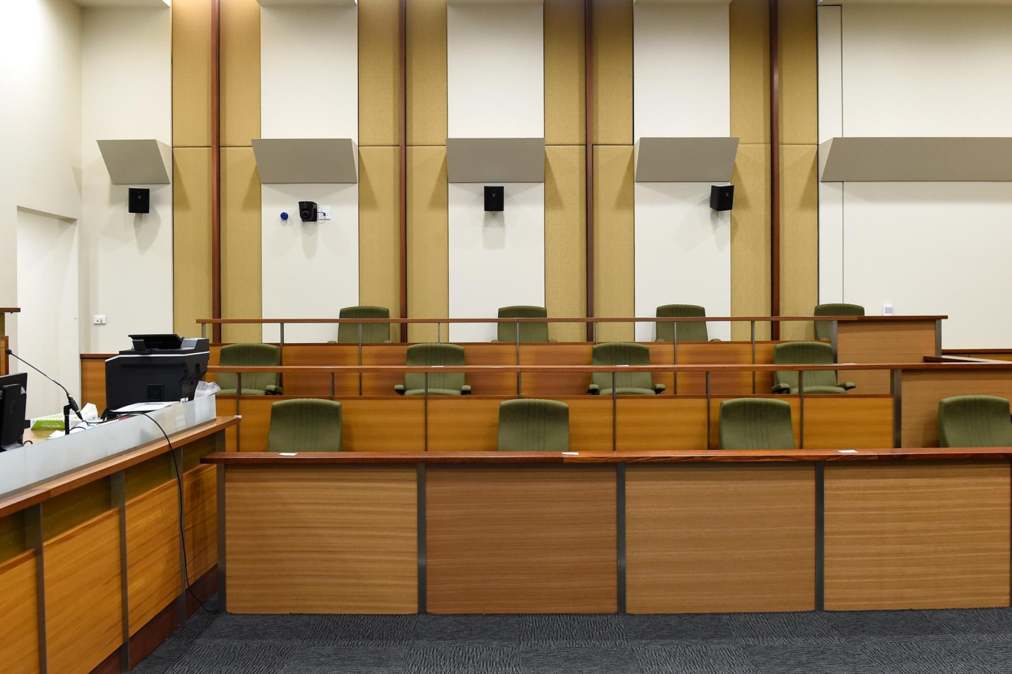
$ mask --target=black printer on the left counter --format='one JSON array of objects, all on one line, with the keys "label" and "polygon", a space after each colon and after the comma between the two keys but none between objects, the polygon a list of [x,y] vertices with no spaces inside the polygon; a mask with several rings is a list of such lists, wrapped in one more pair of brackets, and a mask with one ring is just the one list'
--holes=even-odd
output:
[{"label": "black printer on the left counter", "polygon": [[192,400],[207,373],[210,356],[203,337],[131,335],[134,348],[105,361],[105,405],[117,410],[136,403]]}]

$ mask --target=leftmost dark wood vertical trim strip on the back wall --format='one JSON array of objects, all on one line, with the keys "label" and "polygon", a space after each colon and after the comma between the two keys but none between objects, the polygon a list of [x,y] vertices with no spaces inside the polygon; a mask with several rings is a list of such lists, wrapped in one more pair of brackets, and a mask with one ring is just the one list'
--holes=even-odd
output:
[{"label": "leftmost dark wood vertical trim strip on the back wall", "polygon": [[[210,0],[210,312],[222,318],[222,5]],[[222,341],[222,326],[212,329]]]}]

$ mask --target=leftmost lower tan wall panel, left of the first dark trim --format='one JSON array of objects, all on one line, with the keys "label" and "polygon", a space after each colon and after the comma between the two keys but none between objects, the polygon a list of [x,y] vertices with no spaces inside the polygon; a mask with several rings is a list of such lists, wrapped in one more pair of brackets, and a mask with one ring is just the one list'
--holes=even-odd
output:
[{"label": "leftmost lower tan wall panel, left of the first dark trim", "polygon": [[199,334],[197,319],[210,318],[210,149],[172,156],[173,330],[188,336]]}]

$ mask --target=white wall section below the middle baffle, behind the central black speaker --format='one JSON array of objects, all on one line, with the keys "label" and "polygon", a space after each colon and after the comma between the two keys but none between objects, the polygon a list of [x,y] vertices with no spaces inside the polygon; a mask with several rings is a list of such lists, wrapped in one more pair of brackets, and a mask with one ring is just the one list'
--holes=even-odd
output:
[{"label": "white wall section below the middle baffle, behind the central black speaker", "polygon": [[[495,318],[544,305],[544,183],[505,183],[504,210],[485,213],[485,186],[449,185],[449,315]],[[460,342],[496,339],[495,324],[454,324]]]}]

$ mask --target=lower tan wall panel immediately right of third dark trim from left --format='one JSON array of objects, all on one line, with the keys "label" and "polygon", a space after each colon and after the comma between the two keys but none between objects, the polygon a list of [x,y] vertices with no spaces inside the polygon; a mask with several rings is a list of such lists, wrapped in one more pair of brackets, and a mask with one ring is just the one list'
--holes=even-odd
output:
[{"label": "lower tan wall panel immediately right of third dark trim from left", "polygon": [[[594,151],[594,316],[629,317],[635,305],[632,146]],[[632,324],[601,324],[600,341],[628,341]]]}]

